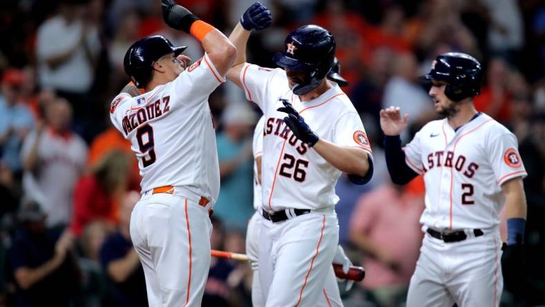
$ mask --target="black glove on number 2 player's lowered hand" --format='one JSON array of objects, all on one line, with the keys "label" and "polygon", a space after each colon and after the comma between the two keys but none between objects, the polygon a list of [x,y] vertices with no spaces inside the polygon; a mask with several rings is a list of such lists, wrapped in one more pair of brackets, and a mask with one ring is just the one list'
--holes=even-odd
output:
[{"label": "black glove on number 2 player's lowered hand", "polygon": [[524,256],[524,245],[516,243],[501,248],[501,273],[504,275],[504,286],[506,290],[519,297],[524,295],[526,287],[526,266]]}]

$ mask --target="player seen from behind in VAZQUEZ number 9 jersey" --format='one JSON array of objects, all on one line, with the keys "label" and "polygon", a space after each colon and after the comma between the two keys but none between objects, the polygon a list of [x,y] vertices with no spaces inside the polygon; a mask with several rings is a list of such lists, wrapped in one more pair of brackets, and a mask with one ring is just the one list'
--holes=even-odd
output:
[{"label": "player seen from behind in VAZQUEZ number 9 jersey", "polygon": [[131,239],[144,268],[149,306],[201,306],[210,268],[209,212],[219,192],[219,165],[207,98],[232,65],[236,49],[219,30],[172,0],[167,25],[201,41],[191,66],[185,49],[162,36],[136,41],[124,68],[145,93],[121,93],[114,126],[131,142],[142,198],[131,215]]}]

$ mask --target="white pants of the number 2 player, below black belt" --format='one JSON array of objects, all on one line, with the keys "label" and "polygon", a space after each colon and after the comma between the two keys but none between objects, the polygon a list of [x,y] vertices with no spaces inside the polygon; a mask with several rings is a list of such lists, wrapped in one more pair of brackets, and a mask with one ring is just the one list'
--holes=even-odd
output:
[{"label": "white pants of the number 2 player, below black belt", "polygon": [[425,234],[407,307],[499,306],[504,287],[500,259],[497,231],[454,243]]}]

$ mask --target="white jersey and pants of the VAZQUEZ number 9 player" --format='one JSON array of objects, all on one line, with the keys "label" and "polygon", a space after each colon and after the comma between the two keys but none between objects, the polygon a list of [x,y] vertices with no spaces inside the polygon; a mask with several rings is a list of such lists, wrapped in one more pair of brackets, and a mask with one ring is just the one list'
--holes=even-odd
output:
[{"label": "white jersey and pants of the VAZQUEZ number 9 player", "polygon": [[144,267],[149,306],[201,306],[210,268],[208,211],[219,192],[208,96],[224,82],[205,55],[148,93],[120,94],[111,120],[138,158],[142,198],[131,239]]}]

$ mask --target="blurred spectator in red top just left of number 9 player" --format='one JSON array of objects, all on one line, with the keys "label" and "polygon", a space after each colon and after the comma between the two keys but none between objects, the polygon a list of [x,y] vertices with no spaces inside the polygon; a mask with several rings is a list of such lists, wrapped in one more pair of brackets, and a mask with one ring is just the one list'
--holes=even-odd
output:
[{"label": "blurred spectator in red top just left of number 9 player", "polygon": [[84,227],[102,221],[113,229],[118,222],[118,204],[127,191],[132,156],[111,151],[82,176],[74,188],[74,209],[70,230],[80,236]]}]

